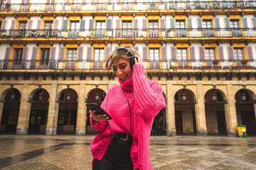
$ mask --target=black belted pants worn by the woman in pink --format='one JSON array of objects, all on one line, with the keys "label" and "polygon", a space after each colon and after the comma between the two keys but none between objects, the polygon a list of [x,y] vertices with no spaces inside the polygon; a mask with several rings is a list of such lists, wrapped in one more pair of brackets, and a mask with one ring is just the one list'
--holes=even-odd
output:
[{"label": "black belted pants worn by the woman in pink", "polygon": [[131,147],[132,138],[123,141],[114,137],[104,157],[93,161],[92,170],[133,170]]}]

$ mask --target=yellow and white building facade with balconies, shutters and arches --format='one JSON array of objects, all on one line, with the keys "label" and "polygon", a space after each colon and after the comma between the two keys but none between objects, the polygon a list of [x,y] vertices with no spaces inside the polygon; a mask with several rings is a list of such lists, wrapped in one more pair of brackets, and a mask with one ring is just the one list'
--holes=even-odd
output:
[{"label": "yellow and white building facade with balconies, shutters and arches", "polygon": [[94,132],[86,103],[129,45],[166,108],[151,135],[256,135],[256,1],[1,0],[0,132]]}]

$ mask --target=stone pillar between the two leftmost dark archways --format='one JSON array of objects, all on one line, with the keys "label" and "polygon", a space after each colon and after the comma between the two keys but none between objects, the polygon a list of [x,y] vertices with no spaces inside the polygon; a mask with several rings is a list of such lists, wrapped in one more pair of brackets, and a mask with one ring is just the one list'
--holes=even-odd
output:
[{"label": "stone pillar between the two leftmost dark archways", "polygon": [[29,117],[31,113],[31,102],[28,100],[28,84],[23,84],[21,91],[21,106],[18,112],[18,125],[16,128],[17,135],[28,134]]}]

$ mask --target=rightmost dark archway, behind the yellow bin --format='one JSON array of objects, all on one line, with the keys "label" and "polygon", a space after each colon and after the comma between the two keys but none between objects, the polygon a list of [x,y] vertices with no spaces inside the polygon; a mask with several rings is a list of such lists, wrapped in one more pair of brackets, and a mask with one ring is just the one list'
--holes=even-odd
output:
[{"label": "rightmost dark archway, behind the yellow bin", "polygon": [[238,125],[247,126],[247,135],[256,135],[255,106],[252,96],[255,96],[255,94],[248,89],[240,89],[235,94]]}]

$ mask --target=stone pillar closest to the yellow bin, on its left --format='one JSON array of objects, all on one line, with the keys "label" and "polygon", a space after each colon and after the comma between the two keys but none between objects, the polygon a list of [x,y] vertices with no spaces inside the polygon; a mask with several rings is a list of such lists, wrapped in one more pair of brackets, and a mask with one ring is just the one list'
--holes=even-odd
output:
[{"label": "stone pillar closest to the yellow bin, on its left", "polygon": [[234,137],[238,135],[237,125],[238,118],[235,108],[235,91],[233,90],[233,85],[227,85],[228,101],[226,101],[225,108],[225,118],[227,124],[228,136]]}]

